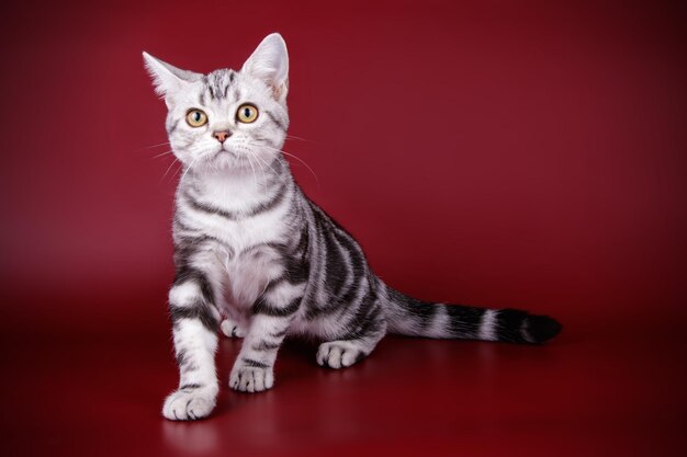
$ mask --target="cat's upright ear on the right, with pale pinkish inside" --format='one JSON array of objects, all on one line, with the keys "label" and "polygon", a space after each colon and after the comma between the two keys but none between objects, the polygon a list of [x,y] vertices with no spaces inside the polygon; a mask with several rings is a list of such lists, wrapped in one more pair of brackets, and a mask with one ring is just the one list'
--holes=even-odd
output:
[{"label": "cat's upright ear on the right, with pale pinkish inside", "polygon": [[248,57],[241,72],[262,80],[272,89],[277,101],[284,101],[289,91],[289,53],[284,38],[278,33],[266,36]]}]

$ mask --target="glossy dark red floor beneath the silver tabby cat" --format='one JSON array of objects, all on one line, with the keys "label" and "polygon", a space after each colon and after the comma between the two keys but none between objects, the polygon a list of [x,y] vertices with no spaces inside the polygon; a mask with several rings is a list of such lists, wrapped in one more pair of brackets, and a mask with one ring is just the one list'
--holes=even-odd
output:
[{"label": "glossy dark red floor beneath the silver tabby cat", "polygon": [[[341,372],[317,367],[314,346],[289,342],[274,389],[239,395],[225,387],[214,414],[195,423],[161,418],[162,399],[176,385],[171,345],[165,334],[142,334],[13,338],[15,351],[2,352],[2,455],[677,456],[687,449],[684,341],[668,331],[568,328],[537,347],[391,336]],[[221,344],[223,380],[239,344]]]}]

